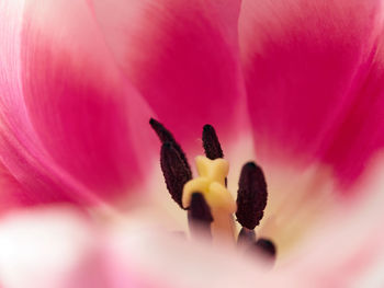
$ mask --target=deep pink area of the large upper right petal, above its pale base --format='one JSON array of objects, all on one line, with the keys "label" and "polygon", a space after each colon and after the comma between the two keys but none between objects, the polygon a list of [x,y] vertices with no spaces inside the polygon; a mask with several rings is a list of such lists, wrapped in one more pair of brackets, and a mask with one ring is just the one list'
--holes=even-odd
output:
[{"label": "deep pink area of the large upper right petal, above its pale base", "polygon": [[382,147],[381,2],[242,2],[241,59],[261,158],[316,157],[349,182]]}]

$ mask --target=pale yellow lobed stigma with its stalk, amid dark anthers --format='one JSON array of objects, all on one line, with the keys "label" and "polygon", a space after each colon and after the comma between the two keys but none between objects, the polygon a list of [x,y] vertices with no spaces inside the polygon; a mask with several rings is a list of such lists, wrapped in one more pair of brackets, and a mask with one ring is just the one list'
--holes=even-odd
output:
[{"label": "pale yellow lobed stigma with its stalk, amid dark anthers", "polygon": [[211,208],[213,223],[211,226],[213,240],[223,238],[235,240],[235,224],[233,214],[236,212],[236,203],[229,191],[225,187],[229,163],[224,159],[211,160],[199,155],[195,158],[199,177],[185,183],[182,204],[190,206],[193,193],[202,193]]}]

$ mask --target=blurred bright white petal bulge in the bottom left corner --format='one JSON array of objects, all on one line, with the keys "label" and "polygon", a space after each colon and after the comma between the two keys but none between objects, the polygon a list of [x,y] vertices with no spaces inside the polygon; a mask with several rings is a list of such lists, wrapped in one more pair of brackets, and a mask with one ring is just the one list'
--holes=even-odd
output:
[{"label": "blurred bright white petal bulge in the bottom left corner", "polygon": [[0,221],[0,283],[4,288],[78,287],[65,283],[94,253],[94,237],[82,215],[65,207],[11,212]]}]

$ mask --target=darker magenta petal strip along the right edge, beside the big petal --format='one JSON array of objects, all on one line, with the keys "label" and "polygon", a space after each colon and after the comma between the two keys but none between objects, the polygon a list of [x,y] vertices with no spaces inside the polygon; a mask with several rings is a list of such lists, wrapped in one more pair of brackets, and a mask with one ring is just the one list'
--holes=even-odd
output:
[{"label": "darker magenta petal strip along the right edge, beside the big petal", "polygon": [[[384,147],[384,31],[358,97],[348,111],[325,160],[336,162],[341,177],[354,178],[374,151]],[[346,149],[348,147],[348,149]],[[335,161],[336,160],[336,161]]]}]

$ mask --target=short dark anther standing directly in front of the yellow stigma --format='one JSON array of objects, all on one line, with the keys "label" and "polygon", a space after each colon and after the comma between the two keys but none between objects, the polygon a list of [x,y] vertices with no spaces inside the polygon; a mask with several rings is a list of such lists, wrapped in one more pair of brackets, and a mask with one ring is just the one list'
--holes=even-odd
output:
[{"label": "short dark anther standing directly in front of the yellow stigma", "polygon": [[192,237],[194,234],[200,235],[201,233],[211,235],[211,222],[213,221],[211,209],[203,194],[199,192],[192,194],[188,221]]}]

